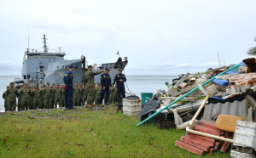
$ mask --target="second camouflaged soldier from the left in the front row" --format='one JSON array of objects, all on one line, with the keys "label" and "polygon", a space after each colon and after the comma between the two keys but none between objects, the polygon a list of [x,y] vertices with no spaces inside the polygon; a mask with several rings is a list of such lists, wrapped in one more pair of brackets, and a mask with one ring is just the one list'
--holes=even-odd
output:
[{"label": "second camouflaged soldier from the left in the front row", "polygon": [[27,84],[24,83],[23,85],[23,89],[20,91],[20,95],[21,95],[21,106],[20,106],[20,110],[28,110],[28,107],[30,105],[31,102],[31,91],[30,88],[27,87]]}]

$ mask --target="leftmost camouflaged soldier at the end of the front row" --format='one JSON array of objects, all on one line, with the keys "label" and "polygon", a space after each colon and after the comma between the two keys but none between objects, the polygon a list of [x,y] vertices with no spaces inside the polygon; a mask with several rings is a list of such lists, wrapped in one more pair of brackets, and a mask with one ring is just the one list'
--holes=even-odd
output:
[{"label": "leftmost camouflaged soldier at the end of the front row", "polygon": [[9,88],[6,91],[7,96],[7,106],[9,111],[15,111],[16,110],[16,97],[18,97],[18,90],[15,87],[14,82],[11,82],[9,84]]}]

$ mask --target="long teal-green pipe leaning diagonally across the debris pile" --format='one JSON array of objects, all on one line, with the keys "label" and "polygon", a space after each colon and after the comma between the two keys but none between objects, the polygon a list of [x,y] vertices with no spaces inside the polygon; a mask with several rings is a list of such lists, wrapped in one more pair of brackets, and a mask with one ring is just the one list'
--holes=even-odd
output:
[{"label": "long teal-green pipe leaning diagonally across the debris pile", "polygon": [[[231,67],[230,69],[221,72],[221,73],[218,74],[217,76],[222,76],[222,75],[224,75],[225,73],[227,73],[228,71],[232,71],[233,69],[236,69],[236,68],[239,67],[239,66],[240,66],[240,65],[235,65],[235,66]],[[205,86],[207,83],[212,82],[215,78],[216,78],[216,76],[213,76],[210,80],[208,80],[207,82],[202,83],[201,85],[202,85],[202,86]],[[199,89],[199,87],[195,87],[194,89],[192,89],[192,90],[189,91],[188,93],[185,93],[185,94],[184,94],[183,96],[181,96],[180,98],[174,100],[171,104],[166,105],[163,109],[161,109],[161,110],[155,112],[152,116],[149,116],[147,119],[145,119],[145,120],[141,121],[140,123],[138,123],[137,126],[142,125],[145,121],[148,121],[148,120],[151,119],[152,117],[158,115],[161,111],[166,110],[166,109],[167,109],[169,106],[171,106],[172,104],[176,104],[179,100],[181,100],[181,99],[187,97],[187,96],[188,96],[189,94],[191,94],[191,93],[194,93],[194,92],[195,92],[196,90],[198,90],[198,89]],[[175,106],[175,107],[176,107],[176,106]],[[171,108],[173,109],[172,106],[171,106]]]}]

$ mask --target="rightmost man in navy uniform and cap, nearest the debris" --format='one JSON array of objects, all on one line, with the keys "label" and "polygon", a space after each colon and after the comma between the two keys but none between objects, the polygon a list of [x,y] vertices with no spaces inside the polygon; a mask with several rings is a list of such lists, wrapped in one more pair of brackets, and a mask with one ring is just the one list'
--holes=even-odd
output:
[{"label": "rightmost man in navy uniform and cap, nearest the debris", "polygon": [[113,78],[113,81],[117,83],[118,102],[120,101],[120,94],[122,93],[123,99],[125,99],[125,74],[122,74],[122,69],[119,69],[119,73]]}]

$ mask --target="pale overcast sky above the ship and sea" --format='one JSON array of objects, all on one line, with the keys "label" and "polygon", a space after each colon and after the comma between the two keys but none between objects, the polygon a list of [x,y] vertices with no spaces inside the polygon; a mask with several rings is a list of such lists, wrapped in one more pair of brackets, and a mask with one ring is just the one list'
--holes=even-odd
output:
[{"label": "pale overcast sky above the ship and sea", "polygon": [[20,75],[27,48],[61,47],[93,63],[128,57],[127,75],[206,71],[249,58],[256,46],[256,1],[1,1],[1,75]]}]

